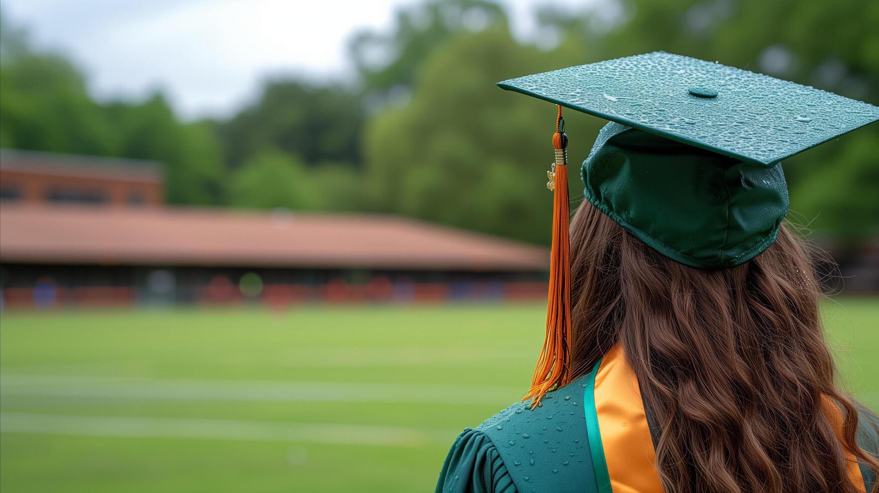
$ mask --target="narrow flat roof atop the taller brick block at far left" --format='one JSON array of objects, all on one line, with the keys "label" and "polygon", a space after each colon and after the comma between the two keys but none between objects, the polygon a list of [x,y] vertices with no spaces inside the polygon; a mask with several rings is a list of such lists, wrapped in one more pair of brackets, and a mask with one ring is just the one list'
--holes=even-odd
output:
[{"label": "narrow flat roof atop the taller brick block at far left", "polygon": [[25,173],[162,183],[157,161],[0,149],[0,169]]}]

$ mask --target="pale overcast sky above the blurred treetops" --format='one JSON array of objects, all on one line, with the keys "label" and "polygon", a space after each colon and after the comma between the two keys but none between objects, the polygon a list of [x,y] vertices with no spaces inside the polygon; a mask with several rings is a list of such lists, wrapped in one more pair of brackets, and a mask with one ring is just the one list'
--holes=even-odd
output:
[{"label": "pale overcast sky above the blurred treetops", "polygon": [[[504,0],[521,37],[542,0]],[[590,2],[553,0],[577,8]],[[345,77],[345,42],[388,29],[412,0],[0,0],[4,18],[60,48],[100,99],[161,88],[187,118],[229,114],[266,74]]]}]

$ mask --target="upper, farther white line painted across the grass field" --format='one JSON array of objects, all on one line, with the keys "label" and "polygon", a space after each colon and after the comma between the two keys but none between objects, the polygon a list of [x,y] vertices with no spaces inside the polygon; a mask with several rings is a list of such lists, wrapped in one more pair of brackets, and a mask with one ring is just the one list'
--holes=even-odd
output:
[{"label": "upper, farther white line painted across the grass field", "polygon": [[[523,387],[524,388],[524,387]],[[379,402],[505,406],[523,388],[374,382],[128,379],[3,375],[0,395],[114,400]]]}]

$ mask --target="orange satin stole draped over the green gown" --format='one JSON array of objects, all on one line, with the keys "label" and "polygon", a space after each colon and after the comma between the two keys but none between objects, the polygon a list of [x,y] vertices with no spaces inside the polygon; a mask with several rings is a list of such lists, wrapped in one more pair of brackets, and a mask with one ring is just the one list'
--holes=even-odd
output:
[{"label": "orange satin stole draped over the green gown", "polygon": [[[601,359],[595,375],[594,399],[613,493],[662,493],[638,379],[620,344],[614,344]],[[825,409],[841,436],[841,411],[831,401],[825,401]],[[858,461],[851,453],[844,453],[849,480],[866,492]]]}]

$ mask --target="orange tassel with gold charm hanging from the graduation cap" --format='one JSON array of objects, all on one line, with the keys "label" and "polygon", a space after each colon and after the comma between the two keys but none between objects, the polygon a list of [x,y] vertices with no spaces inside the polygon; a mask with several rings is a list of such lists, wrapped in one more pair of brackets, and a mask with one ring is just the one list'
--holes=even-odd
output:
[{"label": "orange tassel with gold charm hanging from the graduation cap", "polygon": [[570,383],[570,242],[568,221],[568,136],[564,134],[562,107],[558,107],[556,133],[552,136],[556,162],[548,173],[553,190],[552,252],[549,261],[547,334],[537,360],[531,390],[522,401],[532,399],[531,408],[541,405],[543,395]]}]

